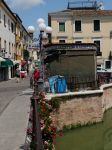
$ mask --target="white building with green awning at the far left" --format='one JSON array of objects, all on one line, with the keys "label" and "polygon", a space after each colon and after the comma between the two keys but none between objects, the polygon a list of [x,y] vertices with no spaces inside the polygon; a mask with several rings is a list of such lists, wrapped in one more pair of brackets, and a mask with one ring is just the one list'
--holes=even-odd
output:
[{"label": "white building with green awning at the far left", "polygon": [[0,63],[0,80],[10,79],[13,72],[15,25],[13,12],[4,0],[0,0],[0,57],[5,59]]}]

